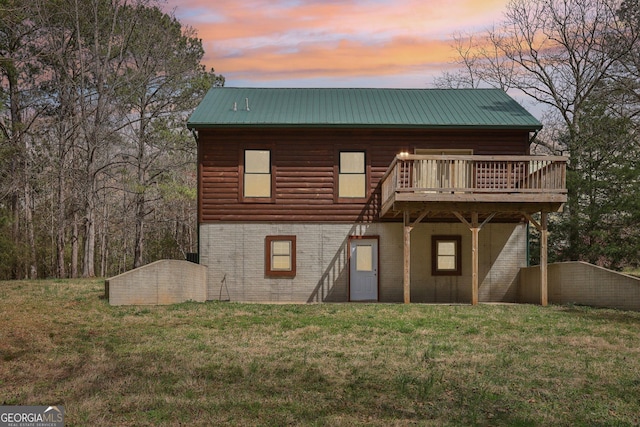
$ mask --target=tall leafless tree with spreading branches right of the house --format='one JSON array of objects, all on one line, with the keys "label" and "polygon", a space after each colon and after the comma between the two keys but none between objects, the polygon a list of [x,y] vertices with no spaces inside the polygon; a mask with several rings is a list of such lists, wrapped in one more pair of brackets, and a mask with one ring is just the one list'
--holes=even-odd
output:
[{"label": "tall leafless tree with spreading branches right of the house", "polygon": [[[625,56],[634,46],[637,50],[637,31],[629,26],[636,12],[619,11],[637,11],[638,3],[623,4],[627,9],[620,9],[619,0],[511,0],[500,25],[481,36],[456,39],[463,83],[518,90],[547,106],[564,129],[563,138],[543,144],[573,157],[589,105],[602,96]],[[576,189],[569,185],[568,222],[575,225],[568,227],[569,259],[579,258],[574,251],[580,247]]]}]

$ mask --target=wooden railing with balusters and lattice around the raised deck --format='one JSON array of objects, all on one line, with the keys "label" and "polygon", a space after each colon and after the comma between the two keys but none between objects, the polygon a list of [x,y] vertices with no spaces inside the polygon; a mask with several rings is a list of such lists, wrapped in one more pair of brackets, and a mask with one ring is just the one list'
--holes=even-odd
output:
[{"label": "wooden railing with balusters and lattice around the raised deck", "polygon": [[396,192],[566,194],[567,158],[398,155],[382,177],[382,201]]}]

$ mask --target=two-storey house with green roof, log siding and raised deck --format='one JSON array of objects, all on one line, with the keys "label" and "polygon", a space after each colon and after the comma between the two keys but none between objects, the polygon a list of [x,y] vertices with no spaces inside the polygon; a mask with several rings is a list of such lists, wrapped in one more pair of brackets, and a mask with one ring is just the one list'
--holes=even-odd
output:
[{"label": "two-storey house with green roof, log siding and raised deck", "polygon": [[210,300],[516,302],[533,224],[546,304],[566,158],[501,90],[214,88],[188,128]]}]

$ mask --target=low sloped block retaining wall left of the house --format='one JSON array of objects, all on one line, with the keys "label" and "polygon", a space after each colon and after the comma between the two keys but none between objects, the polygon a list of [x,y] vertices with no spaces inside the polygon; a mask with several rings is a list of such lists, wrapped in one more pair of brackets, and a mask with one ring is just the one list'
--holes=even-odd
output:
[{"label": "low sloped block retaining wall left of the house", "polygon": [[157,305],[206,301],[207,268],[188,261],[160,260],[105,281],[111,305]]}]

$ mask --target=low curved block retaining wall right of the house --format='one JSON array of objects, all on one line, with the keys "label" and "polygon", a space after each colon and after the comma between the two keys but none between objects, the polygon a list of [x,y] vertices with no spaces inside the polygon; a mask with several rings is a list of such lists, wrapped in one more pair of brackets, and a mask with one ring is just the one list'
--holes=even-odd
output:
[{"label": "low curved block retaining wall right of the house", "polygon": [[[540,267],[523,269],[518,301],[540,303]],[[640,311],[640,279],[585,262],[548,266],[548,296],[553,304]]]}]

